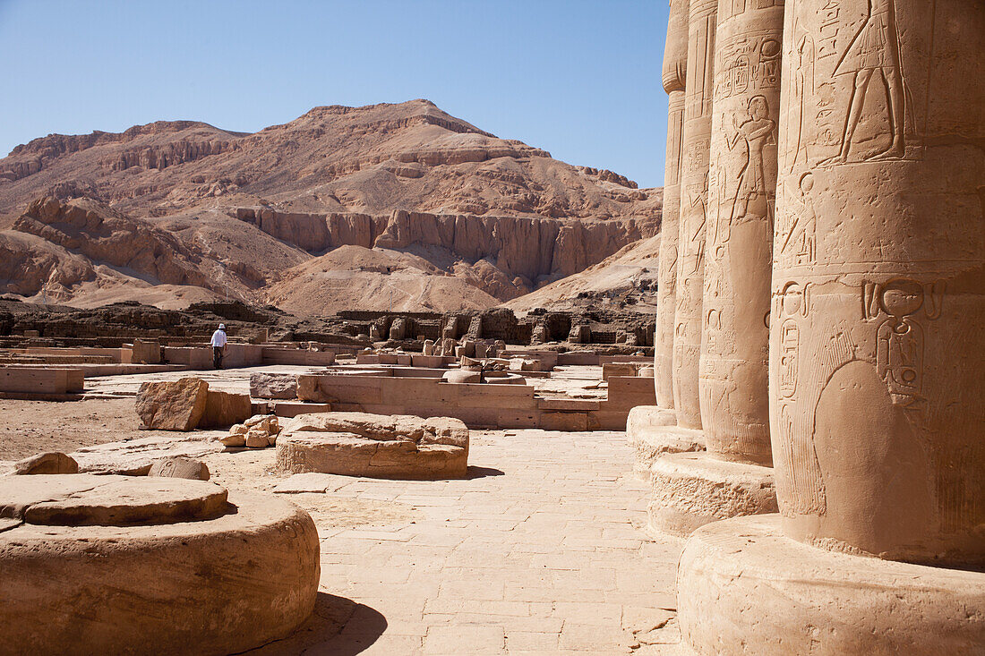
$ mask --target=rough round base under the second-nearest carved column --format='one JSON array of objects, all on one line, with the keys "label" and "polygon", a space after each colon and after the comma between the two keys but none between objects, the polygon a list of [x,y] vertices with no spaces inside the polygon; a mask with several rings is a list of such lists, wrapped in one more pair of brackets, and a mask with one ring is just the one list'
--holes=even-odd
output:
[{"label": "rough round base under the second-nearest carved column", "polygon": [[772,468],[707,452],[661,456],[650,468],[650,485],[653,533],[683,537],[710,522],[777,511]]}]

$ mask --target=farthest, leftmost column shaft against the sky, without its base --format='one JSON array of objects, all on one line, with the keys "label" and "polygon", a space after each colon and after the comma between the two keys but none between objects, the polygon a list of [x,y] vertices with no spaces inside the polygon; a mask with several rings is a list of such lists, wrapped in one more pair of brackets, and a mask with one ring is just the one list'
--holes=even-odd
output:
[{"label": "farthest, leftmost column shaft against the sky, without its base", "polygon": [[660,227],[660,288],[653,352],[657,406],[674,407],[674,311],[677,296],[678,230],[681,214],[681,149],[684,137],[685,72],[688,66],[688,0],[672,0],[664,48],[667,160]]}]

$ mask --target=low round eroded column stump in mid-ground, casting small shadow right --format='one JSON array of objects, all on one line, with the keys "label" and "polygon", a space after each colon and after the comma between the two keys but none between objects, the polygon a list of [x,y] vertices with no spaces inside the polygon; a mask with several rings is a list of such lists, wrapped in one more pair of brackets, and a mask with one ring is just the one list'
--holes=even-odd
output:
[{"label": "low round eroded column stump in mid-ground, casting small shadow right", "polygon": [[376,478],[463,478],[469,429],[445,417],[321,413],[300,415],[277,439],[277,467]]}]

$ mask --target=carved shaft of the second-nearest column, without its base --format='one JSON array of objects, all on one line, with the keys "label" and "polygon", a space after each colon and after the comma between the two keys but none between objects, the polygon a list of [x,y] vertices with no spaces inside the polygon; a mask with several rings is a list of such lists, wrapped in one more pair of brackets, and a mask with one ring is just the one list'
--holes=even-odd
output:
[{"label": "carved shaft of the second-nearest column, without its base", "polygon": [[701,426],[708,450],[769,465],[769,281],[783,0],[720,0],[704,259]]}]

